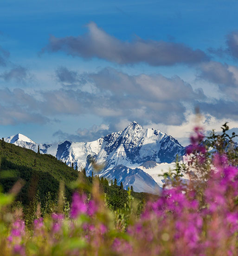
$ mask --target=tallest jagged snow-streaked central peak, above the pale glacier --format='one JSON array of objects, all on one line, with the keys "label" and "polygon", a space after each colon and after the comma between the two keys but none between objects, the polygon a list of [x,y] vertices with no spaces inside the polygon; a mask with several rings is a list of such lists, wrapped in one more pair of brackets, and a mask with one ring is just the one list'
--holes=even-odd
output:
[{"label": "tallest jagged snow-streaked central peak, above the pale glacier", "polygon": [[139,166],[147,161],[170,163],[175,161],[177,154],[184,154],[184,148],[172,136],[152,128],[144,129],[135,121],[101,140],[102,148],[95,160],[99,164],[106,162],[106,169],[120,164]]}]

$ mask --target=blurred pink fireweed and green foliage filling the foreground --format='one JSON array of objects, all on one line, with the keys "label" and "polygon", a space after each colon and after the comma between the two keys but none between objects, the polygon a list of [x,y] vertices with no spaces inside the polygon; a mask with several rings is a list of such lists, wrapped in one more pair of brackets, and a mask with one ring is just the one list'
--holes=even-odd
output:
[{"label": "blurred pink fireweed and green foliage filling the foreground", "polygon": [[10,195],[0,194],[0,255],[238,255],[238,168],[231,154],[208,150],[203,141],[202,128],[195,128],[187,164],[177,163],[169,186],[140,216],[130,192],[123,211],[107,209],[95,181],[90,198],[80,189],[73,194],[69,216],[39,216],[26,228],[7,211]]}]

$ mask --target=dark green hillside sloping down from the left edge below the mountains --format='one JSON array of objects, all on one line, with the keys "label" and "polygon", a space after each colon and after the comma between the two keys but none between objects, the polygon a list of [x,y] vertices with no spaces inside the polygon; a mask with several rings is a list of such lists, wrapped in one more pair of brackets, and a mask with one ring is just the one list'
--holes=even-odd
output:
[{"label": "dark green hillside sloping down from the left edge below the mountains", "polygon": [[30,149],[0,142],[0,185],[4,192],[8,192],[21,178],[25,185],[17,199],[27,204],[37,191],[41,199],[48,191],[57,195],[59,183],[62,181],[65,184],[65,194],[70,197],[70,184],[78,176],[76,170],[52,155],[41,155]]}]

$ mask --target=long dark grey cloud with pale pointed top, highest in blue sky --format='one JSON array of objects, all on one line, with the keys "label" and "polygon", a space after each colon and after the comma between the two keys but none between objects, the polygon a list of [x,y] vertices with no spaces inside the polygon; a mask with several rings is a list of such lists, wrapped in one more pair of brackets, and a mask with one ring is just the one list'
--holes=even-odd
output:
[{"label": "long dark grey cloud with pale pointed top, highest in blue sky", "polygon": [[118,64],[148,63],[151,66],[171,66],[174,64],[195,64],[207,61],[209,57],[201,50],[182,43],[163,40],[121,41],[97,27],[96,23],[87,25],[88,32],[77,37],[57,38],[50,36],[49,44],[43,52],[63,51],[84,59],[99,58]]}]

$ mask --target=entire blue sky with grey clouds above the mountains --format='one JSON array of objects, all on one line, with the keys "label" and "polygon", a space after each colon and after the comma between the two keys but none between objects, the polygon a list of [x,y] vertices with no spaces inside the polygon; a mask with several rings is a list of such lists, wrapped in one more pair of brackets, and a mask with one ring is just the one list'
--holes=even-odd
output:
[{"label": "entire blue sky with grey clouds above the mountains", "polygon": [[[238,128],[237,0],[0,2],[0,137]],[[195,116],[199,109],[201,117]]]}]

